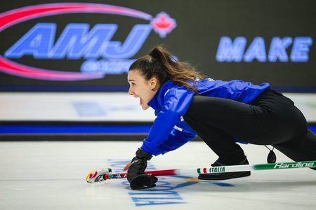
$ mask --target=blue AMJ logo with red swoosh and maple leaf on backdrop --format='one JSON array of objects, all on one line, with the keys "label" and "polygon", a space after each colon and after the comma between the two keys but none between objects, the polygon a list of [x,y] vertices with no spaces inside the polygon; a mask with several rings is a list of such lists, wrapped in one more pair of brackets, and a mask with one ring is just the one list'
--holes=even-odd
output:
[{"label": "blue AMJ logo with red swoosh and maple leaf on backdrop", "polygon": [[[125,41],[113,41],[118,25],[97,24],[92,29],[88,23],[69,23],[56,39],[55,22],[39,22],[11,45],[4,57],[0,56],[0,71],[15,76],[41,80],[91,80],[106,74],[127,72],[134,61],[130,59],[153,29],[165,38],[176,27],[176,20],[162,12],[152,15],[138,10],[96,3],[48,3],[27,6],[0,14],[0,32],[8,27],[35,18],[67,13],[103,13],[123,15],[149,21],[134,25]],[[54,40],[55,43],[54,43]],[[81,72],[53,71],[18,64],[9,59],[30,55],[34,59],[86,59]]]}]

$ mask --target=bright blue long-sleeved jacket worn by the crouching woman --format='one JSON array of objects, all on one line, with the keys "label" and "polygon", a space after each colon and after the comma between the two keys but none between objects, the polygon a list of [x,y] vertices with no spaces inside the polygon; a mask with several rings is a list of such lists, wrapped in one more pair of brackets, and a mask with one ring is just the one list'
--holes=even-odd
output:
[{"label": "bright blue long-sleeved jacket worn by the crouching woman", "polygon": [[[268,83],[253,85],[242,80],[213,80],[207,78],[191,83],[197,88],[199,95],[232,99],[249,104],[265,89],[270,89]],[[197,134],[185,123],[186,113],[195,93],[186,87],[179,86],[170,80],[164,83],[148,103],[154,109],[157,118],[150,129],[147,139],[140,148],[152,155],[173,151],[197,137]]]}]

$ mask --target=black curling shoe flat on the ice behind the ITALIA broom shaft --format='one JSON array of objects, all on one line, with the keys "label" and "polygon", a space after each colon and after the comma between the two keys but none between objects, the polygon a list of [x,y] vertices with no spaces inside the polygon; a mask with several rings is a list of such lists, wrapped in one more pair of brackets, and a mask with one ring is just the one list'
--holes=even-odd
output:
[{"label": "black curling shoe flat on the ice behind the ITALIA broom shaft", "polygon": [[[245,159],[242,162],[239,162],[239,163],[233,164],[233,165],[249,165],[249,162],[248,162],[247,158],[245,157]],[[218,158],[218,160],[216,160],[216,162],[214,162],[211,166],[212,167],[220,167],[220,166],[228,166],[228,165],[224,164],[223,162],[220,162],[220,158]],[[246,172],[226,172],[226,173],[199,174],[199,177],[197,179],[200,179],[200,180],[225,180],[225,179],[240,178],[240,177],[244,177],[244,176],[250,176],[250,172],[246,171]]]}]

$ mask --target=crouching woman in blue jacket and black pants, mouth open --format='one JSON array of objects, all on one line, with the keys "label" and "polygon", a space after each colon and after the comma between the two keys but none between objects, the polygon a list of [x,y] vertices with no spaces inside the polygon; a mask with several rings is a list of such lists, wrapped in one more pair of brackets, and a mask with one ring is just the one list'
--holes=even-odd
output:
[{"label": "crouching woman in blue jacket and black pants, mouth open", "polygon": [[[131,65],[128,81],[129,94],[140,99],[142,109],[151,106],[157,116],[136,157],[124,167],[132,189],[155,186],[157,178],[144,174],[152,155],[175,150],[197,135],[219,157],[212,166],[249,164],[237,139],[272,145],[295,161],[316,160],[316,136],[303,114],[268,83],[205,78],[161,46]],[[249,175],[200,174],[199,179]]]}]

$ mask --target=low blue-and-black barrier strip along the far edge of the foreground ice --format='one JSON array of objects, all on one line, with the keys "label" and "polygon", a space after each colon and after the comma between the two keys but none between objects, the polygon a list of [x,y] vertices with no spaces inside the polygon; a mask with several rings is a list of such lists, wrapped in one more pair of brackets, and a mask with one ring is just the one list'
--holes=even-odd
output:
[{"label": "low blue-and-black barrier strip along the far edge of the foreground ice", "polygon": [[[0,122],[0,141],[142,141],[150,127],[150,123]],[[309,130],[316,134],[316,123],[310,123]]]}]

